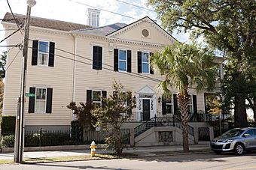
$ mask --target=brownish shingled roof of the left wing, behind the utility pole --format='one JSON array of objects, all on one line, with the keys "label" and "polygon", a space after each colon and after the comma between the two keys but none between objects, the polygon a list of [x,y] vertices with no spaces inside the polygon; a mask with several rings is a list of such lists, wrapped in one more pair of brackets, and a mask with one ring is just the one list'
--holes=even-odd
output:
[{"label": "brownish shingled roof of the left wing, behind the utility pole", "polygon": [[[25,19],[26,19],[25,15],[14,13],[14,16],[15,18],[18,19],[20,23],[22,24],[25,23]],[[13,20],[10,20],[10,19],[13,19]],[[11,13],[5,13],[5,17],[3,21],[15,23],[14,17],[12,16]],[[56,29],[61,31],[72,31],[72,30],[78,30],[78,29],[84,29],[84,28],[91,28],[90,25],[82,25],[82,24],[77,24],[73,22],[65,22],[65,21],[59,21],[55,19],[46,19],[46,18],[40,18],[35,16],[30,17],[30,25],[41,27],[41,28]]]}]

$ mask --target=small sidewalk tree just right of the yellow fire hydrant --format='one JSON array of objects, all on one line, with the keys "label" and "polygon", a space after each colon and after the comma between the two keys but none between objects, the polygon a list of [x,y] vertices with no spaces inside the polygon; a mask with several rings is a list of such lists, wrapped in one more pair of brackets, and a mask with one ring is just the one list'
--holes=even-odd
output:
[{"label": "small sidewalk tree just right of the yellow fire hydrant", "polygon": [[132,116],[132,109],[136,106],[131,91],[123,90],[123,85],[114,81],[114,94],[108,98],[102,97],[101,107],[93,109],[93,115],[98,119],[98,126],[102,127],[107,136],[105,142],[108,148],[114,149],[114,154],[123,152],[123,139],[120,131],[122,124]]}]

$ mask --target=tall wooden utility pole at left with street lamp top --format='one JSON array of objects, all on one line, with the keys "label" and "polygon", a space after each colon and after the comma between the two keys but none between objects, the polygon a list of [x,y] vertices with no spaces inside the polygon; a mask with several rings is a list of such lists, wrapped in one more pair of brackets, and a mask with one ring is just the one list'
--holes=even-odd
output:
[{"label": "tall wooden utility pole at left with street lamp top", "polygon": [[[30,22],[30,13],[31,7],[36,4],[35,0],[27,0],[27,10],[26,10],[26,21],[25,21],[25,35],[24,35],[24,44],[23,44],[23,82],[21,88],[21,108],[20,108],[20,124],[18,125],[18,139],[15,139],[15,153],[14,157],[15,163],[22,163],[23,161],[23,150],[24,150],[24,114],[25,114],[25,97],[26,97],[26,67],[27,67],[27,58],[28,58],[28,47],[29,47],[29,22]],[[17,132],[16,132],[17,133]],[[18,143],[17,143],[18,142]]]}]

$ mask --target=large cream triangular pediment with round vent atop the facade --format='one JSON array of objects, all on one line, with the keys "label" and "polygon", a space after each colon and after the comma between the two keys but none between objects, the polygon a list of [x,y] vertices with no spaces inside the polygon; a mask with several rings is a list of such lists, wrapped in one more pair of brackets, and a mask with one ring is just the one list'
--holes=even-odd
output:
[{"label": "large cream triangular pediment with round vent atop the facade", "polygon": [[169,45],[175,42],[172,35],[148,16],[108,34],[107,37],[161,45]]}]

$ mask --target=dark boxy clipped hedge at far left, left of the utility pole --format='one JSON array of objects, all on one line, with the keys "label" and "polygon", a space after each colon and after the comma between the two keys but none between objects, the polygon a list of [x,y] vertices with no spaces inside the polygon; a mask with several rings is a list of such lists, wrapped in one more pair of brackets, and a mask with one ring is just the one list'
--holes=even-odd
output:
[{"label": "dark boxy clipped hedge at far left, left of the utility pole", "polygon": [[10,135],[15,133],[15,116],[3,116],[1,122],[2,135]]}]

